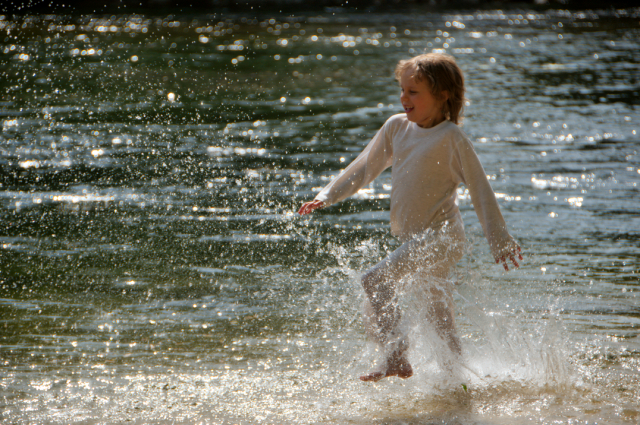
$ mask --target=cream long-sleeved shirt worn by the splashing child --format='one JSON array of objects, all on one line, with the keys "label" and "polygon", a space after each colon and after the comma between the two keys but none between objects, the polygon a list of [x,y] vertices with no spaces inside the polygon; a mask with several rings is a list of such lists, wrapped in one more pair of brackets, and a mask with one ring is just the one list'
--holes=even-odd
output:
[{"label": "cream long-sleeved shirt worn by the splashing child", "polygon": [[422,128],[405,114],[392,116],[315,199],[326,206],[342,201],[390,166],[393,235],[405,239],[456,218],[456,189],[464,183],[494,257],[514,249],[515,241],[473,145],[451,121]]}]

